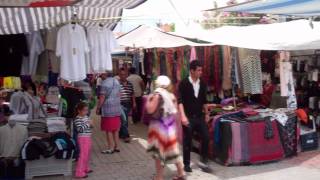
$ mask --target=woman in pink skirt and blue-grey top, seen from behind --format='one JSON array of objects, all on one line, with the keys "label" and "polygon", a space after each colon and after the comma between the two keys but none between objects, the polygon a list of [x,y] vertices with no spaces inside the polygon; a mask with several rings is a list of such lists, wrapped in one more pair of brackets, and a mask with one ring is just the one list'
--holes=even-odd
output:
[{"label": "woman in pink skirt and blue-grey top, seen from behind", "polygon": [[101,153],[120,152],[118,147],[120,121],[120,84],[111,73],[101,75],[97,114],[101,115],[101,130],[106,132],[107,148]]}]

